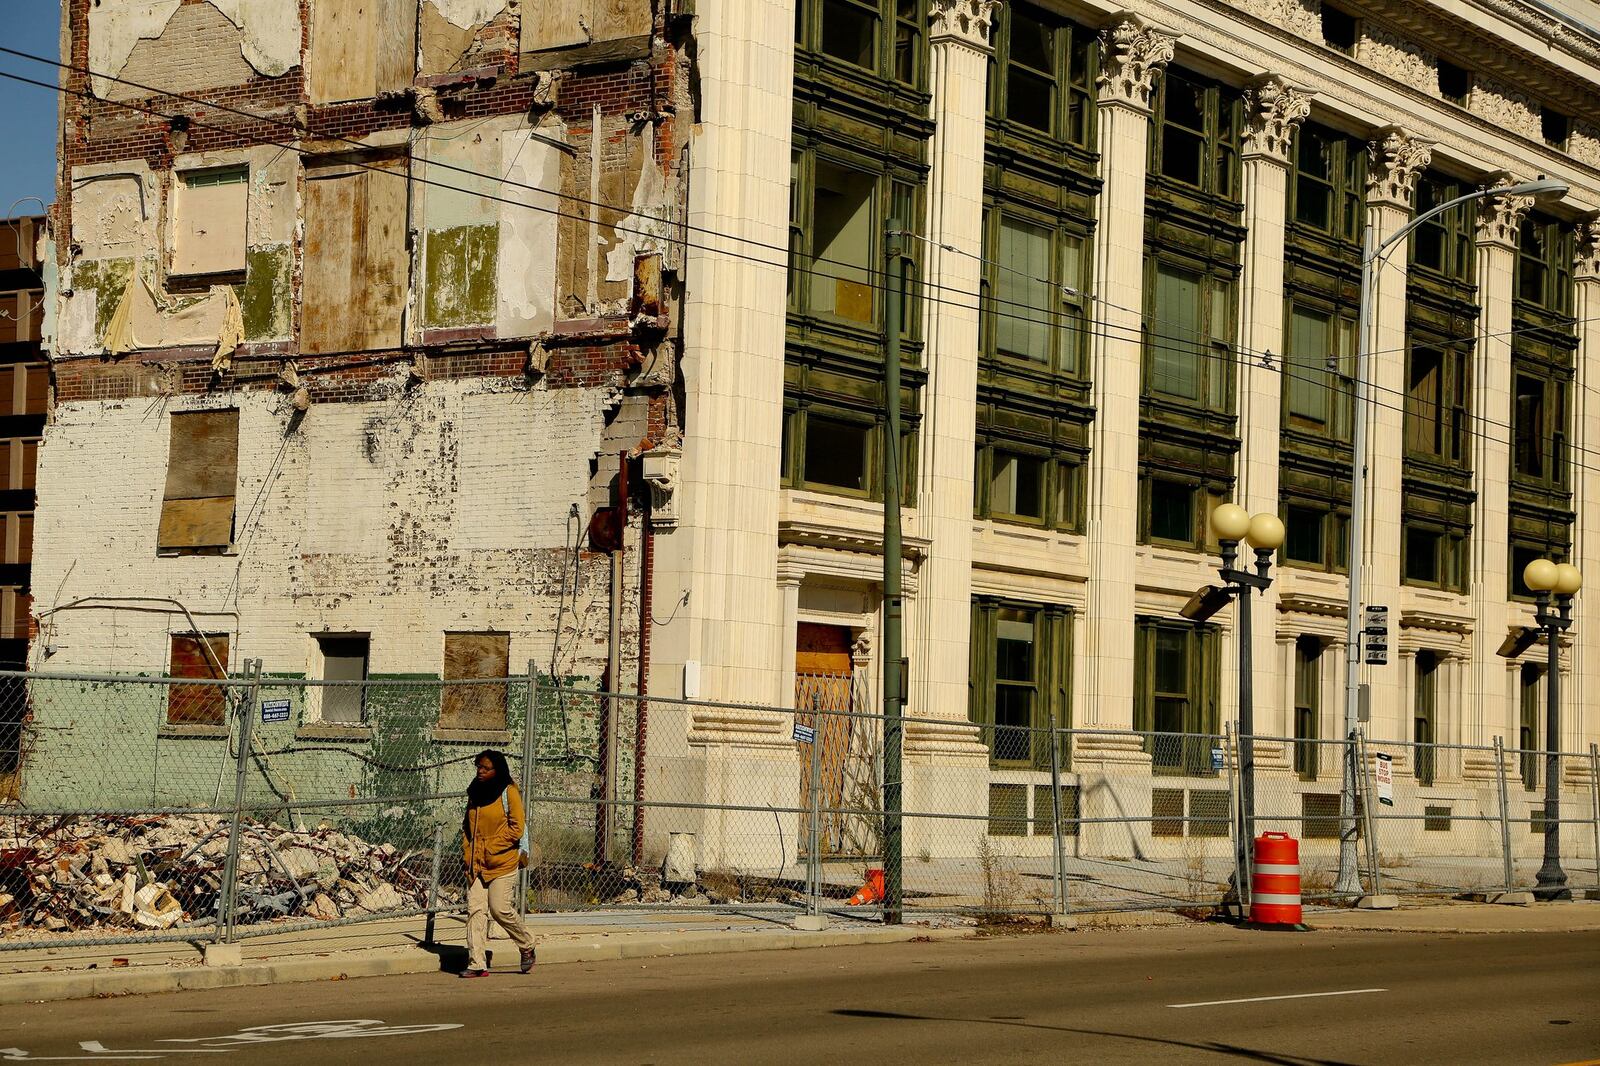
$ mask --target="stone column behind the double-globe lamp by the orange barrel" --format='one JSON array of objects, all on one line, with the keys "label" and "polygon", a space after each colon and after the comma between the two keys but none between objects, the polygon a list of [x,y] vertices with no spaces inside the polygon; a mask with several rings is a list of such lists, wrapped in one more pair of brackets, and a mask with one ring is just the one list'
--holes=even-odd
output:
[{"label": "stone column behind the double-globe lamp by the orange barrel", "polygon": [[[1240,275],[1238,344],[1238,490],[1235,503],[1251,514],[1278,514],[1278,423],[1283,415],[1283,230],[1288,216],[1290,139],[1306,115],[1310,96],[1275,74],[1245,90],[1245,269]],[[1259,352],[1277,355],[1270,363]],[[1254,599],[1256,731],[1293,736],[1294,723],[1283,685],[1270,683],[1277,655],[1278,586]],[[1234,631],[1237,634],[1237,629]],[[1237,639],[1237,637],[1235,637]],[[1290,637],[1293,648],[1293,635]],[[1288,658],[1293,667],[1293,655]],[[1293,671],[1290,675],[1293,685]],[[1237,699],[1238,687],[1230,690]],[[1261,768],[1293,765],[1283,744],[1256,744]]]}]

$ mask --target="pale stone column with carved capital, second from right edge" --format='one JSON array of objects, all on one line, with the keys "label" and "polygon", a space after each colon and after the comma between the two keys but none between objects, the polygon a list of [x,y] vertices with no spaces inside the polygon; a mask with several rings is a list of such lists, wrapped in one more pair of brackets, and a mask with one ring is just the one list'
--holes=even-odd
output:
[{"label": "pale stone column with carved capital, second from right edge", "polygon": [[[1498,176],[1490,184],[1506,184]],[[1512,618],[1507,600],[1510,543],[1510,423],[1512,423],[1512,285],[1517,271],[1517,230],[1533,197],[1493,197],[1478,202],[1477,283],[1478,328],[1472,349],[1472,664],[1461,706],[1470,744],[1493,743],[1496,733],[1515,736],[1506,701],[1506,659],[1498,655]],[[1507,731],[1510,730],[1510,731]],[[1474,752],[1482,755],[1482,752]],[[1467,771],[1493,770],[1477,757]]]}]

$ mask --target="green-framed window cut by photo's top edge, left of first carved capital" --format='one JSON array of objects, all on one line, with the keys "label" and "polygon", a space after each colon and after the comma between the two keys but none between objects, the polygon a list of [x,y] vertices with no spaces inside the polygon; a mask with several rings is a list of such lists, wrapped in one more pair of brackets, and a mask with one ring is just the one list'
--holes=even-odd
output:
[{"label": "green-framed window cut by photo's top edge, left of first carved capital", "polygon": [[[926,14],[918,0],[800,0],[795,48],[904,85],[922,85]],[[891,27],[885,34],[885,27]]]}]

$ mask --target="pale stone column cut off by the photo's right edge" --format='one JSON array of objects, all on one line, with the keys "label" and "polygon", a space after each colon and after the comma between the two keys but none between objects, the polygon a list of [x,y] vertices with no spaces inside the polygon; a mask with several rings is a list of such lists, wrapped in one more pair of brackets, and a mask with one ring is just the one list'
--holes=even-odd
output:
[{"label": "pale stone column cut off by the photo's right edge", "polygon": [[[1573,563],[1584,571],[1584,581],[1594,583],[1578,591],[1573,599],[1573,672],[1563,688],[1566,706],[1562,707],[1562,727],[1568,751],[1589,751],[1600,741],[1600,485],[1595,474],[1584,467],[1595,466],[1600,456],[1600,219],[1589,219],[1578,227],[1578,262],[1574,264],[1576,299],[1573,315],[1578,319],[1578,379],[1573,384],[1573,511],[1578,522],[1573,527]],[[1570,695],[1568,695],[1570,693]],[[1587,778],[1587,765],[1576,767]],[[1574,767],[1568,765],[1568,773]],[[1565,808],[1563,808],[1565,810]]]}]

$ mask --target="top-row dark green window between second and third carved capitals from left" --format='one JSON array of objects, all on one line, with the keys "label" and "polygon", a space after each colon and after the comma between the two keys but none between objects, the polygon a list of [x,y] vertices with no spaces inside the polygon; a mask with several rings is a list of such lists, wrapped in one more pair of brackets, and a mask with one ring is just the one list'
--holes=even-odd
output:
[{"label": "top-row dark green window between second and third carved capitals from left", "polygon": [[1168,66],[1152,99],[1150,174],[1238,198],[1240,94]]}]

